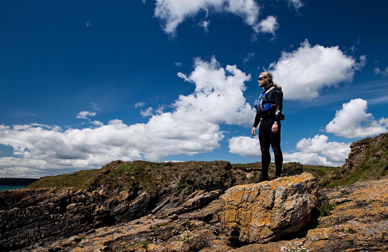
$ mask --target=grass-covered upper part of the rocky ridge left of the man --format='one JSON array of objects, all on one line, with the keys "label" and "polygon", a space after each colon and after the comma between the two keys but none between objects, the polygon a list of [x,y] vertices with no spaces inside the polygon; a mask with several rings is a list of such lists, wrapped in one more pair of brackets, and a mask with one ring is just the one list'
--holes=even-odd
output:
[{"label": "grass-covered upper part of the rocky ridge left of the man", "polygon": [[32,183],[28,188],[36,187],[74,187],[91,190],[128,190],[142,188],[147,192],[163,189],[176,190],[177,193],[189,193],[196,189],[215,190],[232,185],[229,162],[166,162],[113,161],[101,169],[81,170],[72,174],[46,176]]}]

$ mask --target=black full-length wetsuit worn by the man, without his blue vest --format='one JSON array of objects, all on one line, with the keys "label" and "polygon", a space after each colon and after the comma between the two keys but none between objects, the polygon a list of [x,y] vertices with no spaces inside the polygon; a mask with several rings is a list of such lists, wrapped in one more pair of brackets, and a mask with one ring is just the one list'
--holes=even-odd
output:
[{"label": "black full-length wetsuit worn by the man, without his blue vest", "polygon": [[[267,91],[271,86],[265,88],[264,92]],[[255,123],[253,127],[257,127],[260,123],[259,128],[259,142],[260,142],[260,150],[262,151],[262,177],[268,177],[268,167],[271,162],[271,156],[269,154],[269,146],[271,145],[272,150],[275,155],[275,166],[276,166],[276,174],[275,176],[279,176],[282,173],[282,165],[283,165],[283,154],[280,148],[280,116],[282,113],[283,107],[283,92],[279,88],[274,88],[267,95],[267,100],[275,100],[275,111],[267,112],[264,114],[256,113]],[[261,119],[261,120],[260,120]],[[274,125],[274,121],[277,122],[277,133],[272,132],[272,125]]]}]

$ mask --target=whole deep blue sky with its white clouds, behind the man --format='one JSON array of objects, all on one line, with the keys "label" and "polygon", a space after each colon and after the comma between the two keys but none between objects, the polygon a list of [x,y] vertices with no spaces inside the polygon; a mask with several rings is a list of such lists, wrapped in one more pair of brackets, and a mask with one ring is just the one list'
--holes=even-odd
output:
[{"label": "whole deep blue sky with its white clouds, behind the man", "polygon": [[387,5],[5,1],[0,177],[260,161],[263,69],[283,88],[285,162],[341,165],[351,142],[388,131]]}]

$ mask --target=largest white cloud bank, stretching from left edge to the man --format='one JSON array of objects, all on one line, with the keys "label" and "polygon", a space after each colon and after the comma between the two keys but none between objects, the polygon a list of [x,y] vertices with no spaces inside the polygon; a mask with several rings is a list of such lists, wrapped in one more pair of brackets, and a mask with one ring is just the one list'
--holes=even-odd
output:
[{"label": "largest white cloud bank, stretching from left edge to the man", "polygon": [[116,159],[161,162],[168,155],[219,148],[224,137],[219,124],[251,125],[255,113],[243,95],[251,77],[237,66],[221,67],[215,57],[195,59],[194,71],[180,76],[195,83],[194,92],[170,104],[172,112],[158,109],[160,114],[147,123],[93,121],[93,127],[65,131],[38,124],[0,125],[0,144],[12,147],[17,156],[1,158],[0,176],[68,173]]}]

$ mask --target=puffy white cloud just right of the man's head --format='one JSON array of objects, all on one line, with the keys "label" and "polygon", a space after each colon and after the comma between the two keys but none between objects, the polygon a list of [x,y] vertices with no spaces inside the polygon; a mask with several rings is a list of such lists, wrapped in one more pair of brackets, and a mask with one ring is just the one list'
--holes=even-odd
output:
[{"label": "puffy white cloud just right of the man's head", "polygon": [[319,96],[324,86],[352,81],[355,70],[365,64],[365,55],[356,62],[338,46],[312,47],[306,39],[293,52],[282,52],[279,60],[271,63],[268,70],[272,72],[274,82],[282,86],[285,99],[311,100]]}]

